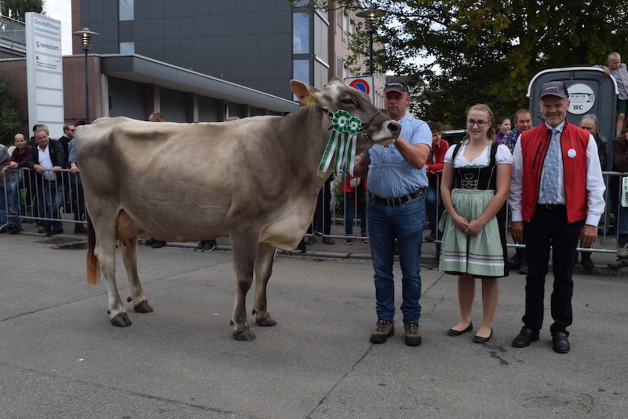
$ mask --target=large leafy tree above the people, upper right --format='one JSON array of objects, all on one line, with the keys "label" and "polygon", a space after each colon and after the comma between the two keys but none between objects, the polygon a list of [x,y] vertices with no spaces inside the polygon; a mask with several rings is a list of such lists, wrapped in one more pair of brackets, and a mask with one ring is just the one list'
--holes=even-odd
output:
[{"label": "large leafy tree above the people, upper right", "polygon": [[[290,0],[289,0],[290,1]],[[314,0],[317,8],[356,9],[354,0]],[[426,120],[463,126],[468,106],[489,104],[495,117],[527,108],[528,84],[544,69],[628,60],[625,0],[374,0],[386,11],[374,52],[380,70],[428,84],[414,109]],[[367,55],[357,31],[354,53]],[[427,64],[425,60],[430,60]]]}]

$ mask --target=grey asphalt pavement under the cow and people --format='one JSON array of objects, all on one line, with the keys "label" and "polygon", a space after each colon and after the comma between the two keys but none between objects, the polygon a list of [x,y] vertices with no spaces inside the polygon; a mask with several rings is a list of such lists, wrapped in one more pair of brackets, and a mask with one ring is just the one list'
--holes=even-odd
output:
[{"label": "grey asphalt pavement under the cow and people", "polygon": [[[396,335],[373,345],[367,244],[319,239],[305,256],[278,254],[268,286],[278,325],[261,328],[249,316],[257,338],[237,342],[229,327],[229,239],[218,243],[209,253],[194,252],[195,243],[140,246],[139,273],[154,312],[135,313],[128,303],[133,325],[116,328],[104,284],[85,283],[85,250],[73,235],[0,235],[0,417],[626,416],[625,269],[575,274],[569,354],[551,350],[551,280],[541,340],[511,346],[525,283],[512,272],[500,280],[494,335],[481,345],[471,334],[446,335],[458,321],[456,281],[430,267],[433,245],[426,243],[423,344],[404,345],[398,315]],[[395,272],[399,278],[398,264]],[[117,284],[126,296],[121,255]],[[476,291],[479,325],[480,281]]]}]

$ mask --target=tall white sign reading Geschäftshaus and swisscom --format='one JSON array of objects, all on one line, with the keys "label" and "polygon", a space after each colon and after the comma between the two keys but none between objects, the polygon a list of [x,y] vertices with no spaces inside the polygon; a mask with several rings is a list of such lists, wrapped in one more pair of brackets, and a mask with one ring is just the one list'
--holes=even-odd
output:
[{"label": "tall white sign reading Gesch\u00e4ftshaus and swisscom", "polygon": [[45,124],[50,138],[63,135],[63,62],[61,22],[26,13],[26,80],[28,126]]}]

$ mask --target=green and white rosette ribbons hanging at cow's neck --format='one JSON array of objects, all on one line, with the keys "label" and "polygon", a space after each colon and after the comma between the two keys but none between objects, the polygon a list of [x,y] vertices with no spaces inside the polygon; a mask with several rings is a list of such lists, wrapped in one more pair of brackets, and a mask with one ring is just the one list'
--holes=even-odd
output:
[{"label": "green and white rosette ribbons hanging at cow's neck", "polygon": [[318,164],[318,176],[326,176],[327,169],[332,163],[332,157],[336,158],[335,173],[338,176],[340,176],[343,165],[345,173],[353,174],[355,143],[361,127],[362,121],[351,116],[347,111],[340,110],[333,114],[332,134],[320,164]]}]

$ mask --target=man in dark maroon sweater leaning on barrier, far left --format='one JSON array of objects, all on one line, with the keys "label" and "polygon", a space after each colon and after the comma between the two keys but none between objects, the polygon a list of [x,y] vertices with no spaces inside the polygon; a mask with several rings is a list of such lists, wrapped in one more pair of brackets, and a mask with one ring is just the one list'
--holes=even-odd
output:
[{"label": "man in dark maroon sweater leaning on barrier, far left", "polygon": [[[28,170],[18,171],[15,169],[28,167],[28,157],[30,156],[33,147],[26,144],[26,140],[22,134],[15,135],[13,138],[13,144],[15,145],[15,150],[13,150],[13,154],[11,154],[9,162],[3,167],[2,174],[3,176],[8,177],[6,179],[7,183],[11,181],[11,186],[8,191],[8,210],[10,214],[9,219],[7,220],[11,224],[7,227],[7,230],[11,234],[17,234],[22,230],[22,220],[18,216],[19,213],[23,212],[21,206],[21,190],[26,188],[27,199],[30,199],[29,195],[32,192],[29,189],[31,184],[31,172]],[[12,172],[13,176],[11,176]],[[1,199],[4,199],[4,197]]]}]

